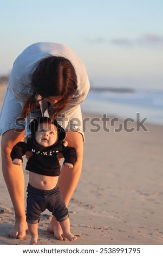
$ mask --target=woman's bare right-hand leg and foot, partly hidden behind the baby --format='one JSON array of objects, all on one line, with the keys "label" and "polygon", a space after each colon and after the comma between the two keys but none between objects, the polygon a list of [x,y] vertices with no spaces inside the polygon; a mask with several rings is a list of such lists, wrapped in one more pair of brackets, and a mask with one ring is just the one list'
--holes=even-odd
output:
[{"label": "woman's bare right-hand leg and foot, partly hidden behind the baby", "polygon": [[[68,131],[66,141],[69,147],[74,147],[77,153],[77,161],[72,169],[68,169],[62,166],[61,175],[58,180],[58,186],[60,187],[61,194],[63,196],[66,206],[68,206],[71,196],[77,186],[80,179],[82,160],[83,160],[83,136],[79,132]],[[54,233],[54,236],[58,240],[63,239],[63,232],[60,224],[56,221],[55,217],[51,219],[48,227],[50,233]]]}]

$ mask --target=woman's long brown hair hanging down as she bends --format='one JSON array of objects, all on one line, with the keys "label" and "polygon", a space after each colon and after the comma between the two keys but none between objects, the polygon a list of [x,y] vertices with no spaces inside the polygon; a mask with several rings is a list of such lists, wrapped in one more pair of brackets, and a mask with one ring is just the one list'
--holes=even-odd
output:
[{"label": "woman's long brown hair hanging down as she bends", "polygon": [[77,77],[74,66],[64,57],[51,56],[43,59],[31,78],[31,86],[34,90],[29,99],[25,102],[21,118],[26,118],[31,108],[36,109],[38,101],[36,95],[41,95],[42,99],[48,96],[62,96],[62,99],[55,104],[51,117],[62,111],[69,99],[75,94],[77,89]]}]

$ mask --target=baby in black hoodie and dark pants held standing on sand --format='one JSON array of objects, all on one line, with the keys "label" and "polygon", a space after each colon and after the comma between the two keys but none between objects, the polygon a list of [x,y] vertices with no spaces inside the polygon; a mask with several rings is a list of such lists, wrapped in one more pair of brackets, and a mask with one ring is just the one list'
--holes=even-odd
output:
[{"label": "baby in black hoodie and dark pants held standing on sand", "polygon": [[73,168],[76,162],[76,150],[65,147],[63,140],[66,132],[56,120],[48,117],[35,118],[30,123],[31,138],[27,143],[18,142],[11,151],[13,164],[22,164],[22,156],[31,151],[27,162],[29,184],[27,187],[27,223],[31,235],[30,245],[38,240],[38,222],[41,212],[48,209],[56,217],[63,230],[63,240],[74,241],[77,237],[70,233],[68,209],[64,204],[57,186],[61,172],[60,159],[64,157],[64,166]]}]

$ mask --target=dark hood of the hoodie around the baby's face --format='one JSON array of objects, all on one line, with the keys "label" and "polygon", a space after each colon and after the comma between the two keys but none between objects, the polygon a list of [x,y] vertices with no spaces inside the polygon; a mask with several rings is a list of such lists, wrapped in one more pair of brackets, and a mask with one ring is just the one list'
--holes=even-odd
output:
[{"label": "dark hood of the hoodie around the baby's face", "polygon": [[41,123],[51,123],[57,127],[58,141],[56,143],[61,142],[66,138],[66,131],[57,123],[56,119],[49,117],[38,117],[33,119],[29,125],[32,139],[35,139],[35,132],[37,130],[37,126]]}]

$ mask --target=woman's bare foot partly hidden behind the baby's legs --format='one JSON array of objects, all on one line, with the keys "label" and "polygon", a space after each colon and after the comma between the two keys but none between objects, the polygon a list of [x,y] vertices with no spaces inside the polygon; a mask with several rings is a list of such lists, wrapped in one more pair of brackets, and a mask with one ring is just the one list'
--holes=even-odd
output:
[{"label": "woman's bare foot partly hidden behind the baby's legs", "polygon": [[60,240],[60,241],[62,241],[62,240],[66,241],[67,240],[66,237],[63,236],[63,231],[62,231],[61,225],[56,220],[55,217],[52,217],[47,230],[48,230],[49,233],[53,233],[54,237],[57,240]]}]

